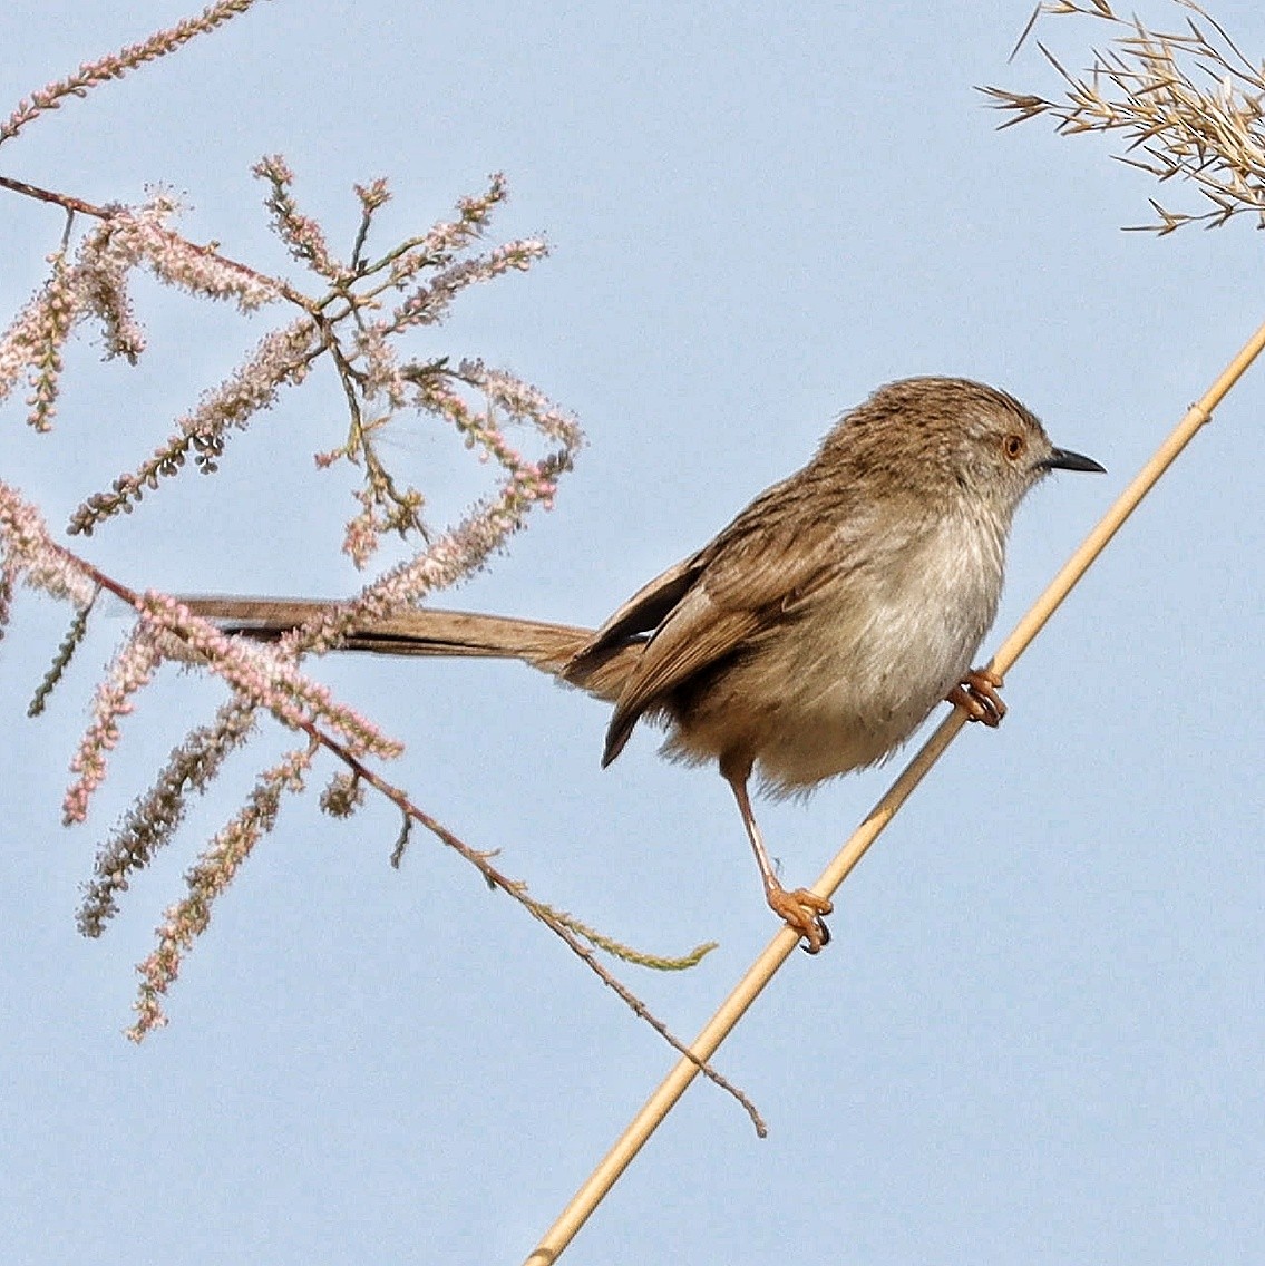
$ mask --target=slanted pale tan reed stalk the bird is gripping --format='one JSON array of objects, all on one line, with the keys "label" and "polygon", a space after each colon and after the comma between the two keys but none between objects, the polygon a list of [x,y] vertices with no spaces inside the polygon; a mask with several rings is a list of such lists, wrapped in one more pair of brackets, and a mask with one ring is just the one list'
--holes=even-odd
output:
[{"label": "slanted pale tan reed stalk the bird is gripping", "polygon": [[[1050,582],[1046,591],[1019,620],[1014,632],[998,647],[989,665],[990,668],[1000,674],[1010,670],[1112,537],[1121,529],[1124,520],[1137,509],[1142,498],[1159,482],[1195,433],[1211,420],[1213,409],[1221,404],[1262,349],[1265,349],[1265,325],[1261,325],[1247,341],[1242,351],[1230,362],[1203,398],[1190,406],[1167,439],[1160,444],[1151,460],[1121,492],[1098,525]],[[909,799],[914,787],[940,760],[965,724],[965,715],[956,708],[941,722],[883,799],[870,810],[861,825],[826,867],[813,885],[813,891],[823,896],[834,895],[836,889],[847,879],[870,844],[891,820],[900,805]],[[747,1008],[760,996],[777,968],[790,957],[798,941],[799,938],[790,928],[783,928],[772,938],[764,953],[751,965],[747,974],[695,1038],[690,1046],[693,1055],[700,1060],[710,1060],[715,1055],[717,1048],[742,1019]],[[531,1257],[527,1258],[527,1266],[552,1266],[557,1261],[593,1210],[632,1163],[633,1157],[641,1151],[650,1136],[685,1094],[689,1084],[698,1076],[698,1065],[688,1058],[677,1062],[658,1089],[646,1100],[641,1112],[637,1113],[614,1147],[571,1198],[557,1222],[546,1232]]]}]

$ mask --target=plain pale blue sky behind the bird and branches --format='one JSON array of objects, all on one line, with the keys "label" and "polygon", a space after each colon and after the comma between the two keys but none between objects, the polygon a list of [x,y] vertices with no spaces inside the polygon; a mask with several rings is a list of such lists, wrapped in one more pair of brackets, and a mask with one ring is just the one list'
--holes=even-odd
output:
[{"label": "plain pale blue sky behind the bird and branches", "polygon": [[[4,97],[185,11],[9,0]],[[455,605],[596,623],[876,385],[1003,386],[1111,473],[1026,504],[993,644],[1265,319],[1246,223],[1121,233],[1146,215],[1146,177],[1097,139],[994,132],[972,85],[1056,86],[1032,46],[1005,65],[1028,11],[275,0],[43,119],[3,170],[98,203],[167,184],[194,238],[274,271],[287,262],[249,176],[263,153],[286,156],[336,241],[353,181],[389,176],[405,232],[505,171],[496,232],[543,232],[552,257],[467,294],[434,346],[537,384],[589,447],[557,509]],[[1216,14],[1265,52],[1259,6]],[[1073,66],[1105,34],[1040,33]],[[61,218],[5,208],[8,314]],[[146,290],[138,306],[149,358],[103,367],[79,344],[52,436],[5,406],[3,475],[53,524],[266,328]],[[566,1261],[1257,1260],[1262,384],[1254,370],[1014,670],[1000,732],[971,727],[865,858],[828,952],[796,955],[722,1050],[770,1138],[695,1086]],[[135,587],[352,591],[347,486],[310,462],[338,427],[332,390],[300,392],[217,481],[165,490],[89,557]],[[446,504],[463,473],[428,443],[401,430],[393,460]],[[125,625],[100,620],[28,722],[63,624],[25,598],[0,672],[11,1260],[524,1257],[670,1052],[429,841],[393,871],[381,805],[348,824],[314,800],[286,806],[217,910],[171,1027],[125,1042],[132,966],[255,766],[82,941],[96,839],[219,693],[172,675],[144,698],[92,819],[67,832],[66,763]],[[526,668],[320,672],[408,742],[394,772],[414,798],[539,896],[647,948],[721,942],[693,974],[631,979],[676,1032],[764,947],[728,790],[660,762],[652,734],[603,772],[603,709]],[[761,809],[788,881],[817,875],[893,772]]]}]

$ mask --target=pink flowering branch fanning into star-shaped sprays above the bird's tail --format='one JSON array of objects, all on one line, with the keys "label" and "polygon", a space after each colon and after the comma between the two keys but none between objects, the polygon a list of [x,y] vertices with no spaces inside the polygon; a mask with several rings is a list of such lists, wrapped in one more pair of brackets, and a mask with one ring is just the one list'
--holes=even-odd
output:
[{"label": "pink flowering branch fanning into star-shaped sprays above the bird's tail", "polygon": [[[385,532],[404,539],[428,537],[422,492],[396,482],[375,444],[376,432],[403,411],[432,414],[457,427],[467,443],[479,446],[485,458],[504,468],[503,492],[515,486],[519,495],[548,504],[556,476],[570,468],[581,443],[575,423],[534,387],[504,371],[488,370],[477,360],[462,360],[453,370],[447,357],[401,361],[393,346],[413,328],[441,323],[465,287],[523,271],[544,256],[538,238],[509,242],[484,254],[461,254],[504,201],[504,177],[493,176],[482,195],[462,199],[455,219],[408,238],[375,261],[366,261],[363,251],[374,213],[390,192],[382,180],[357,186],[361,225],[349,261],[341,263],[319,227],[299,211],[285,161],[280,156],[265,158],[256,173],[270,186],[266,201],[275,229],[291,254],[328,284],[323,295],[306,296],[281,279],[187,242],[167,223],[180,209],[168,195],[157,194],[135,209],[94,206],[0,177],[0,187],[62,205],[71,220],[85,214],[101,222],[80,243],[73,266],[65,262],[65,251],[51,257],[53,271],[43,290],[0,335],[0,400],[27,372],[32,381],[29,422],[37,429],[47,430],[52,424],[61,347],[81,320],[96,316],[101,322],[108,356],[123,356],[130,363],[139,358],[144,337],[128,299],[128,272],[134,267],[147,267],[160,281],[195,296],[234,299],[242,311],[285,300],[301,313],[266,335],[134,471],[90,495],[72,514],[71,532],[91,534],[113,515],[130,513],[146,491],[179,473],[190,456],[203,473],[217,471],[230,433],[246,429],[271,408],[282,387],[301,384],[325,354],[342,384],[351,423],[344,443],[318,453],[317,465],[323,468],[346,460],[363,467],[363,487],[353,494],[360,511],[348,522],[343,538],[343,551],[358,567],[366,566]],[[371,316],[387,291],[401,290],[405,298],[390,315]],[[349,327],[346,333],[344,327]],[[462,389],[480,392],[477,414],[461,395]],[[505,423],[533,427],[558,447],[537,462],[524,461],[505,441]]]}]

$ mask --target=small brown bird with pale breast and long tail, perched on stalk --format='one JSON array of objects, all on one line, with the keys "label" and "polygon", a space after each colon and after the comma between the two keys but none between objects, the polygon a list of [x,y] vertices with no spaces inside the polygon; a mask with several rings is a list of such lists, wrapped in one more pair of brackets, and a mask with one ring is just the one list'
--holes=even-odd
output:
[{"label": "small brown bird with pale breast and long tail, perched on stalk", "polygon": [[[666,755],[715,761],[733,789],[774,912],[815,953],[831,903],[774,874],[747,794],[874,765],[948,700],[995,727],[991,672],[971,670],[997,614],[1005,543],[1051,470],[1102,471],[1055,448],[1013,396],[965,379],[907,379],[846,414],[817,456],[596,632],[417,610],[347,638],[387,655],[517,658],[614,704],[601,763],[637,722]],[[227,630],[276,638],[328,603],[185,598]]]}]

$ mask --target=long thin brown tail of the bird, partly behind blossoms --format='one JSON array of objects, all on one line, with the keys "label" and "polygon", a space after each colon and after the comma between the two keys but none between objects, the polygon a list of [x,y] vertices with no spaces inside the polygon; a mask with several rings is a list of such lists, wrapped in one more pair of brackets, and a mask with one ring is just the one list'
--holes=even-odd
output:
[{"label": "long thin brown tail of the bird, partly behind blossoms", "polygon": [[[225,633],[274,642],[318,619],[333,603],[308,599],[177,595],[194,615]],[[417,610],[352,629],[339,649],[377,655],[474,656],[522,660],[596,699],[614,703],[641,653],[643,638],[591,649],[594,630],[472,611]],[[588,652],[577,658],[581,652]]]}]

